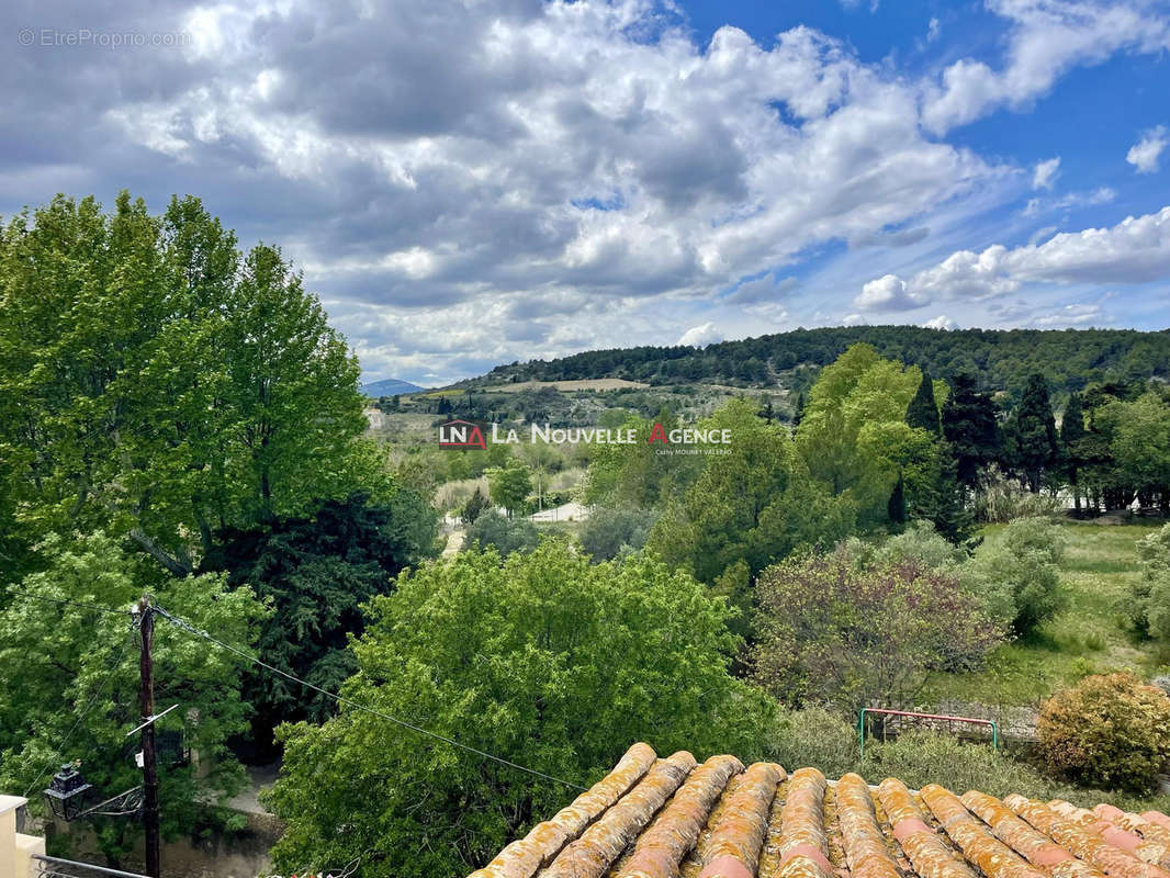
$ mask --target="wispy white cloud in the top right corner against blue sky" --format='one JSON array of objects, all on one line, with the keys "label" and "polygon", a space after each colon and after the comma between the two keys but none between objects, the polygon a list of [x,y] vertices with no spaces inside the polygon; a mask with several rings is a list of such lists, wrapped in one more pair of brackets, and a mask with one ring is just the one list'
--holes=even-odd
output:
[{"label": "wispy white cloud in the top right corner against blue sky", "polygon": [[1011,22],[1005,61],[993,70],[961,59],[927,85],[923,122],[936,133],[1000,107],[1021,109],[1073,67],[1170,48],[1170,19],[1143,0],[987,0],[987,8]]}]

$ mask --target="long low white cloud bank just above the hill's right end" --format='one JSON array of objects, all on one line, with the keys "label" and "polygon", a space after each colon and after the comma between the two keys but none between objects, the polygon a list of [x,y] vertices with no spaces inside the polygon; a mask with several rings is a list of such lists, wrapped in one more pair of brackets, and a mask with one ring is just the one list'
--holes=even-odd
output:
[{"label": "long low white cloud bank just above the hill's right end", "polygon": [[1030,283],[1144,283],[1170,276],[1170,207],[1128,217],[1112,228],[1065,232],[1040,245],[959,251],[909,280],[888,274],[854,300],[870,310],[937,300],[984,300]]}]

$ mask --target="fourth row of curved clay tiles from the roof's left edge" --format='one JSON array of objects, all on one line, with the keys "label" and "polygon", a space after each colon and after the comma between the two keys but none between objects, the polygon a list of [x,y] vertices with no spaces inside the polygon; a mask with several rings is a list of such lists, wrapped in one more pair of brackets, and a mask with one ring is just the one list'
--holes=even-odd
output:
[{"label": "fourth row of curved clay tiles from the roof's left edge", "polygon": [[743,775],[707,845],[698,878],[752,878],[768,831],[768,812],[785,777],[775,762],[756,762]]}]

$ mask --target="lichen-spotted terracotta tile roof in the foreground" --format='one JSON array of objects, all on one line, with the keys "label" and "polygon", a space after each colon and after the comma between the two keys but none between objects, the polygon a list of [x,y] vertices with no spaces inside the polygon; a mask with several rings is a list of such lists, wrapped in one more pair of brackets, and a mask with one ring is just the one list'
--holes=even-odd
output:
[{"label": "lichen-spotted terracotta tile roof in the foreground", "polygon": [[1170,818],[645,743],[469,878],[1170,878]]}]

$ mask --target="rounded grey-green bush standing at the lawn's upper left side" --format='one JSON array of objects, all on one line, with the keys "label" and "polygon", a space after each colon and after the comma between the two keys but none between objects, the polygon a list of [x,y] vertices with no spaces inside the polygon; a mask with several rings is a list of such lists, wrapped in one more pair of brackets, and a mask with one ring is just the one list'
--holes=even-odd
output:
[{"label": "rounded grey-green bush standing at the lawn's upper left side", "polygon": [[1064,534],[1047,519],[1017,519],[979,547],[963,579],[994,618],[1027,635],[1064,605],[1057,571],[1064,549]]}]

